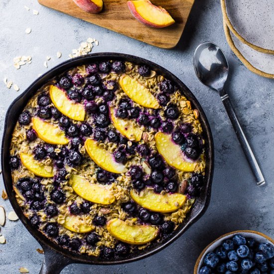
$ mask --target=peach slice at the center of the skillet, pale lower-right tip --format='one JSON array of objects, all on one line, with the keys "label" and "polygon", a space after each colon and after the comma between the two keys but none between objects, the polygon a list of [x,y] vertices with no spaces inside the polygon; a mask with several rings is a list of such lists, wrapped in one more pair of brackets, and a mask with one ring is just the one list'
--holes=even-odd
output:
[{"label": "peach slice at the center of the skillet, pale lower-right tip", "polygon": [[115,161],[112,153],[100,147],[97,141],[87,139],[85,148],[92,160],[103,169],[113,173],[125,173],[128,171],[124,164]]}]

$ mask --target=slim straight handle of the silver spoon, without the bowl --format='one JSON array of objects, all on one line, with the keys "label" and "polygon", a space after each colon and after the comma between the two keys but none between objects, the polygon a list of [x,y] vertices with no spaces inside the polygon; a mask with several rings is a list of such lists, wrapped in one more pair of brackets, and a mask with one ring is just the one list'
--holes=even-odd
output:
[{"label": "slim straight handle of the silver spoon, without the bowl", "polygon": [[236,132],[236,135],[237,135],[237,137],[242,145],[242,148],[246,154],[247,160],[250,164],[253,174],[256,177],[257,185],[264,185],[266,183],[265,178],[264,178],[263,173],[258,165],[258,162],[253,154],[253,151],[248,143],[248,140],[242,130],[242,127],[241,127],[239,120],[236,116],[236,113],[235,113],[234,108],[231,104],[231,101],[228,97],[228,94],[224,90],[222,90],[220,92],[220,96],[221,96],[222,102],[225,106],[225,109],[227,111],[228,117],[229,117],[229,119],[232,123],[232,126]]}]

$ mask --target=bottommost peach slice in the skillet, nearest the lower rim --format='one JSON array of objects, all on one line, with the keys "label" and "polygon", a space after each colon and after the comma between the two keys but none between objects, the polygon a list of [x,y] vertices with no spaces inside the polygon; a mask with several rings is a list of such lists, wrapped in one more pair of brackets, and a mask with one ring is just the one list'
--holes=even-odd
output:
[{"label": "bottommost peach slice in the skillet, nearest the lower rim", "polygon": [[158,229],[156,227],[148,225],[131,226],[117,218],[107,223],[107,230],[116,239],[132,245],[149,243],[158,235]]}]

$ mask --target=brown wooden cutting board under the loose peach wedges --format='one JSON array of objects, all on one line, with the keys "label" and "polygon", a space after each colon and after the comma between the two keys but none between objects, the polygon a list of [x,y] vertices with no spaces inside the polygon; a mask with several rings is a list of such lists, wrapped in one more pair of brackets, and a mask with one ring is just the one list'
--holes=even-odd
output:
[{"label": "brown wooden cutting board under the loose peach wedges", "polygon": [[176,22],[165,28],[152,28],[139,23],[132,16],[127,0],[104,0],[103,11],[99,14],[90,14],[82,10],[72,0],[38,1],[44,6],[161,48],[176,46],[194,2],[194,0],[152,0],[153,4],[164,7]]}]

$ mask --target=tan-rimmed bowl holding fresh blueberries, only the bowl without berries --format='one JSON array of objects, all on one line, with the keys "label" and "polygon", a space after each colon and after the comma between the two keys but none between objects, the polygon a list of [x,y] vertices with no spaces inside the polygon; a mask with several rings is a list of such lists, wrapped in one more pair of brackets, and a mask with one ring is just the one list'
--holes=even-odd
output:
[{"label": "tan-rimmed bowl holding fresh blueberries, only the bowl without berries", "polygon": [[266,242],[266,243],[271,243],[274,245],[274,240],[271,239],[270,237],[268,237],[267,235],[261,233],[261,232],[257,232],[257,231],[253,231],[253,230],[237,230],[237,231],[233,231],[227,234],[222,235],[221,237],[219,237],[218,239],[216,239],[215,241],[213,241],[212,243],[210,243],[200,254],[199,258],[196,261],[195,267],[194,267],[194,274],[199,274],[199,271],[201,269],[202,263],[204,261],[204,257],[208,252],[213,252],[218,246],[221,245],[221,242],[223,242],[226,239],[230,239],[232,238],[235,234],[241,234],[244,237],[248,237],[248,238],[254,238],[256,241],[262,243],[262,242]]}]

